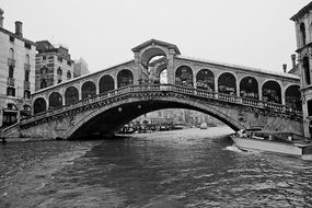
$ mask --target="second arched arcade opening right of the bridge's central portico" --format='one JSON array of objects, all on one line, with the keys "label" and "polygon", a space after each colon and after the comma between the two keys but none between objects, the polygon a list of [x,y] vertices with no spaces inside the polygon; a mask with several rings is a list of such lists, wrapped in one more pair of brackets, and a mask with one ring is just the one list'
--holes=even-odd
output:
[{"label": "second arched arcade opening right of the bridge's central portico", "polygon": [[196,88],[201,90],[215,91],[215,76],[208,69],[201,69],[196,74]]}]

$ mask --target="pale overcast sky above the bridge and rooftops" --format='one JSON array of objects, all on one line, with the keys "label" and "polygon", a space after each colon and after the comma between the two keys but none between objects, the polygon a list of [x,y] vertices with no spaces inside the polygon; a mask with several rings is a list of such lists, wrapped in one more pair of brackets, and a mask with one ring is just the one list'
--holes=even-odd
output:
[{"label": "pale overcast sky above the bridge and rooftops", "polygon": [[4,28],[48,39],[86,60],[91,72],[134,58],[151,38],[195,58],[282,71],[291,67],[294,24],[309,0],[1,0]]}]

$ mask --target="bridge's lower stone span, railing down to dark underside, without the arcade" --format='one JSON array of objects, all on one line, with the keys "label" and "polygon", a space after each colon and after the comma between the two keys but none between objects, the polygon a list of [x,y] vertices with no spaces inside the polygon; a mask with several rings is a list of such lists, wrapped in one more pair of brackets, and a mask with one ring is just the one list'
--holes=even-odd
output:
[{"label": "bridge's lower stone span, railing down to dark underside, without the arcade", "polygon": [[188,108],[209,114],[232,129],[263,127],[301,134],[299,111],[279,104],[173,84],[128,85],[61,106],[9,127],[5,138],[88,138],[112,136],[148,112]]}]

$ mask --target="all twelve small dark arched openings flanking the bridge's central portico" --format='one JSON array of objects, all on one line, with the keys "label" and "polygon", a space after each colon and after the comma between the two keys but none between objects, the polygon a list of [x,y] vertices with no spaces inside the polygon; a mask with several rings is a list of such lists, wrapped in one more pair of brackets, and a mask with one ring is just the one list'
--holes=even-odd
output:
[{"label": "all twelve small dark arched openings flanking the bridge's central portico", "polygon": [[[189,71],[190,70],[190,71]],[[187,72],[188,71],[188,72]],[[189,73],[189,74],[188,74]],[[203,90],[216,91],[215,76],[208,69],[201,69],[196,74],[196,86]],[[200,84],[199,84],[200,83]],[[123,69],[117,74],[117,88],[134,84],[134,74],[128,69]],[[193,71],[187,66],[178,67],[175,72],[175,84],[187,85],[193,84]],[[105,74],[99,81],[99,93],[111,91],[115,89],[115,81],[112,76]],[[223,72],[218,78],[218,92],[224,94],[236,95],[236,79],[230,72]],[[269,80],[262,85],[262,99],[270,99],[268,102],[281,103],[281,88],[278,82]],[[65,91],[65,101],[59,92],[53,92],[48,97],[48,107],[59,107],[61,105],[70,105],[79,100],[95,96],[97,93],[96,85],[93,81],[86,81],[81,86],[81,96],[76,86],[69,86]],[[271,99],[269,95],[277,99]],[[286,91],[286,104],[300,106],[299,85],[289,85]],[[247,76],[240,81],[240,96],[259,99],[258,83],[254,77]],[[296,103],[297,102],[297,103]],[[38,97],[34,101],[34,113],[45,112],[47,109],[47,102],[44,97]]]}]

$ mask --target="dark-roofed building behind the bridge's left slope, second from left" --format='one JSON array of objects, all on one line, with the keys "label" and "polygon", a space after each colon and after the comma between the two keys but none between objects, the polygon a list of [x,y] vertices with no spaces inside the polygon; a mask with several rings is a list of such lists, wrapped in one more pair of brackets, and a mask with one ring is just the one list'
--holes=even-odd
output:
[{"label": "dark-roofed building behind the bridge's left slope, second from left", "polygon": [[73,78],[74,61],[67,48],[41,41],[36,49],[36,91]]}]

